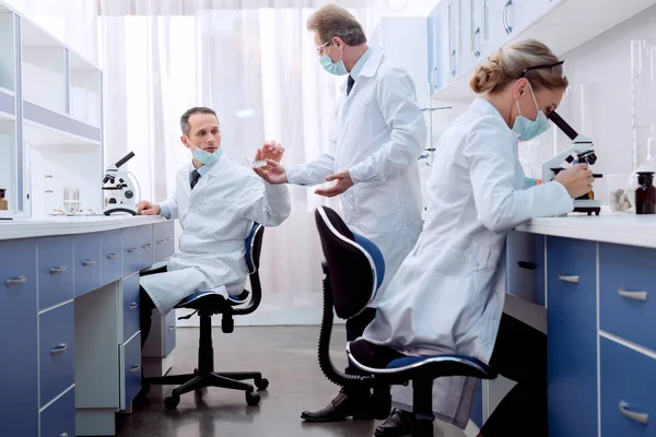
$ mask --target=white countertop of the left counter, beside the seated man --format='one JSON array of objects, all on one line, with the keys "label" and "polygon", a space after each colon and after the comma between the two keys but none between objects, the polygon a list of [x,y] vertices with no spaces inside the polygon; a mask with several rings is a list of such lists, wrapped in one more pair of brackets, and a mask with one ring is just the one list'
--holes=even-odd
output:
[{"label": "white countertop of the left counter, beside the seated man", "polygon": [[0,240],[54,235],[86,234],[164,222],[160,215],[45,216],[0,220]]}]

